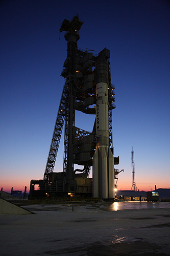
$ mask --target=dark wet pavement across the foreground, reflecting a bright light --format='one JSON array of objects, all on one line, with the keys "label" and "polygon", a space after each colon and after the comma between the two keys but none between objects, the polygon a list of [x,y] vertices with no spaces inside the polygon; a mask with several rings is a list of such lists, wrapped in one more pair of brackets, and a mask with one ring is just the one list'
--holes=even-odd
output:
[{"label": "dark wet pavement across the foreground, reflecting a bright light", "polygon": [[1,256],[170,255],[169,202],[23,207],[35,214],[0,215]]}]

